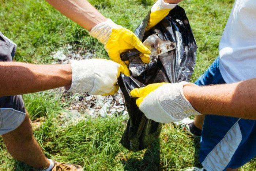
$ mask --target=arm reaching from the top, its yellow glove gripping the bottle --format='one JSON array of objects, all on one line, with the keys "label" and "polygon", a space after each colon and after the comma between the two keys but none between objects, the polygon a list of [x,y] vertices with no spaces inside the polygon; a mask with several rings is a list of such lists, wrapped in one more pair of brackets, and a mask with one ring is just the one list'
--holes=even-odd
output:
[{"label": "arm reaching from the top, its yellow glove gripping the bottle", "polygon": [[136,48],[143,53],[140,58],[144,63],[150,61],[150,50],[143,45],[130,30],[106,19],[86,0],[46,0],[63,15],[69,17],[98,39],[109,54],[111,60],[123,65],[125,75],[129,75],[127,63],[120,59],[120,54],[128,49]]}]

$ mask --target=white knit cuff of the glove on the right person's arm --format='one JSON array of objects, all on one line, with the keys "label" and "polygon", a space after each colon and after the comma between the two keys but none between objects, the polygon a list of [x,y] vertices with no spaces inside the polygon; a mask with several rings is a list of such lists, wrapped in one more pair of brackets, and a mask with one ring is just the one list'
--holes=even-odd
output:
[{"label": "white knit cuff of the glove on the right person's arm", "polygon": [[172,84],[172,86],[170,84],[163,85],[159,89],[159,103],[166,113],[172,116],[172,120],[178,121],[191,115],[201,115],[192,107],[183,94],[183,87],[188,84],[192,83],[182,81]]}]

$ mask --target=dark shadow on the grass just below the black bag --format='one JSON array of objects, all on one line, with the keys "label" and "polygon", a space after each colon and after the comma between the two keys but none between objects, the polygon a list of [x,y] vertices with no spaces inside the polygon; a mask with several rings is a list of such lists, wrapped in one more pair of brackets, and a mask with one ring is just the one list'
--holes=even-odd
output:
[{"label": "dark shadow on the grass just below the black bag", "polygon": [[151,147],[149,147],[143,159],[129,158],[122,162],[124,170],[126,171],[158,171],[160,166],[160,144],[159,139],[156,140]]}]

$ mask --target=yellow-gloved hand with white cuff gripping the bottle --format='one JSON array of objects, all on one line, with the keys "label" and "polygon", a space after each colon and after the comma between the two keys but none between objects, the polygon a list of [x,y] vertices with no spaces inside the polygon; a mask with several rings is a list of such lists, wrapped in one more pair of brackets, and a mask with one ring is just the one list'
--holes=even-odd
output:
[{"label": "yellow-gloved hand with white cuff gripping the bottle", "polygon": [[147,54],[150,54],[151,52],[143,45],[138,37],[130,30],[123,28],[121,25],[115,24],[110,19],[97,24],[89,33],[104,44],[110,59],[123,65],[125,75],[130,75],[130,73],[127,65],[120,58],[120,54],[122,52],[136,48],[144,54],[140,56],[144,63],[149,63],[150,61],[150,56]]}]

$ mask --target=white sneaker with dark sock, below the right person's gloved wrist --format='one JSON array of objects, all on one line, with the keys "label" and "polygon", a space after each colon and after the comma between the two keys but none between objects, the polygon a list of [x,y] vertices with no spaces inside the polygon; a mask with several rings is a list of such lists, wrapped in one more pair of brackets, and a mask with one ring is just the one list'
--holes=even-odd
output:
[{"label": "white sneaker with dark sock, below the right person's gloved wrist", "polygon": [[195,137],[200,137],[202,130],[197,128],[194,125],[194,120],[185,118],[179,122],[174,122],[176,126],[180,126],[184,131],[187,132],[187,134],[195,136]]}]

